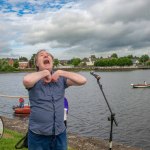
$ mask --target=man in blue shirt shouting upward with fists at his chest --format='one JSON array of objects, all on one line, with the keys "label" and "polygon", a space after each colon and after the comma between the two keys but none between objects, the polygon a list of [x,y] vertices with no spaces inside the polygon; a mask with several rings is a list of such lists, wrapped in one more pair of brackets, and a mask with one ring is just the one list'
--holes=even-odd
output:
[{"label": "man in blue shirt shouting upward with fists at his chest", "polygon": [[35,57],[37,72],[27,74],[23,83],[29,91],[29,150],[67,150],[64,124],[65,88],[83,85],[86,78],[63,70],[53,71],[53,56],[40,50]]}]

